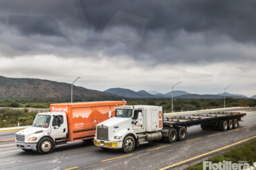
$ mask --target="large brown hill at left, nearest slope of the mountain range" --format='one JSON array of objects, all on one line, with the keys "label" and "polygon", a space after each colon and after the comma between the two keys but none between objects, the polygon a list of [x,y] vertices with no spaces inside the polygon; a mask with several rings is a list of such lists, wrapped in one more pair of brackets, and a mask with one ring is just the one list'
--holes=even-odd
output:
[{"label": "large brown hill at left, nearest slope of the mountain range", "polygon": [[[71,84],[37,78],[7,78],[0,76],[0,98],[3,99],[58,99],[71,98]],[[74,100],[121,99],[113,94],[73,86]]]}]

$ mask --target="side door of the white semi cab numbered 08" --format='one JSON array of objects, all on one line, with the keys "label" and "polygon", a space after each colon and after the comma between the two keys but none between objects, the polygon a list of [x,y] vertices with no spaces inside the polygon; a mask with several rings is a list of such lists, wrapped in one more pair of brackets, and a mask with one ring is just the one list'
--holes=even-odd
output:
[{"label": "side door of the white semi cab numbered 08", "polygon": [[143,109],[135,109],[133,116],[133,128],[134,132],[145,132],[145,114]]}]

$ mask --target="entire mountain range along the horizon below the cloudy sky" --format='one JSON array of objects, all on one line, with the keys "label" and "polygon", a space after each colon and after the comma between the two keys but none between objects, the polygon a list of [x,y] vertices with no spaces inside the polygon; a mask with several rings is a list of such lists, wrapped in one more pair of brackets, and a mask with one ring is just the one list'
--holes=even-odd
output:
[{"label": "entire mountain range along the horizon below the cloudy sky", "polygon": [[[224,94],[191,94],[181,90],[174,91],[175,98],[223,98]],[[241,94],[228,94],[232,98],[248,98]],[[0,76],[0,99],[53,99],[70,100],[71,84],[48,81],[38,78],[7,78]],[[161,94],[156,91],[147,92],[131,89],[110,88],[104,92],[86,89],[73,85],[74,100],[120,100],[122,98],[172,98],[172,92]],[[256,95],[251,98],[256,98]]]}]

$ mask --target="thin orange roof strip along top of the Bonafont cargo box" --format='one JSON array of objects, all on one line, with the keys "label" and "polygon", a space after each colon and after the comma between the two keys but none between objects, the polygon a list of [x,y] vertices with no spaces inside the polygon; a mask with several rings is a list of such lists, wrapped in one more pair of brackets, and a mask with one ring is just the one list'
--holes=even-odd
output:
[{"label": "thin orange roof strip along top of the Bonafont cargo box", "polygon": [[[125,104],[127,102],[125,101]],[[77,102],[77,103],[53,103],[51,105],[71,105],[76,106],[100,106],[100,105],[122,105],[122,100],[119,101],[91,101],[91,102]]]}]

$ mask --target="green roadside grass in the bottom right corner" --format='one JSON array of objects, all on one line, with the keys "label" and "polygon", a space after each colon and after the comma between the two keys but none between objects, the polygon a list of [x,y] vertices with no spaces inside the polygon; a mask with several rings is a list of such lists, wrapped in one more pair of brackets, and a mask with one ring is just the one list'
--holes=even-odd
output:
[{"label": "green roadside grass in the bottom right corner", "polygon": [[[248,161],[248,163],[253,166],[253,162],[256,162],[256,140],[253,140],[250,143],[246,143],[235,149],[214,156],[209,160],[212,163],[223,162],[223,160],[231,161],[232,163],[238,163],[239,161]],[[196,164],[194,166],[188,167],[186,170],[199,170],[203,169],[203,162]]]}]

